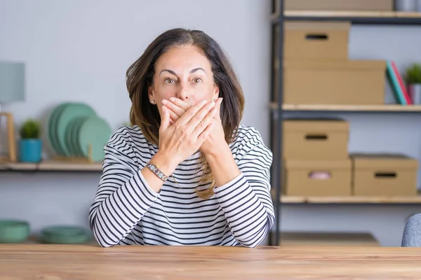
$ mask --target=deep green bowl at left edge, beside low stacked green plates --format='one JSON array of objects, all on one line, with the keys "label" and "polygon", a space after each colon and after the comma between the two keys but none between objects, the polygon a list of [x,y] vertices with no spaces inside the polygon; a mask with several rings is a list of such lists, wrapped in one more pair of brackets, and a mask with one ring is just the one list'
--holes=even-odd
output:
[{"label": "deep green bowl at left edge, beside low stacked green plates", "polygon": [[29,223],[18,220],[0,220],[0,243],[20,243],[29,237]]}]

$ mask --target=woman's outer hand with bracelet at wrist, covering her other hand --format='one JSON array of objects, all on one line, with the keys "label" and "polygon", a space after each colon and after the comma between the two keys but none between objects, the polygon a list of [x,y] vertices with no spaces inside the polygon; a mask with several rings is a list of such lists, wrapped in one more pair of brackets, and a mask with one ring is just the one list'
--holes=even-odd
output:
[{"label": "woman's outer hand with bracelet at wrist, covering her other hand", "polygon": [[170,109],[164,104],[159,128],[159,161],[164,166],[162,172],[173,173],[177,165],[199,150],[208,138],[217,113],[215,102],[206,100],[190,107],[183,115],[170,124]]}]

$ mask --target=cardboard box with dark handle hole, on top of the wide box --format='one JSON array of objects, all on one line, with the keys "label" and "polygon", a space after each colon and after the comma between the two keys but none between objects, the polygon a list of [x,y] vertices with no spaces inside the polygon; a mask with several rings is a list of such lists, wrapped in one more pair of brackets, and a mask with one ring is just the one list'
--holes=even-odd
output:
[{"label": "cardboard box with dark handle hole, on top of the wide box", "polygon": [[350,22],[285,22],[284,59],[347,59]]}]

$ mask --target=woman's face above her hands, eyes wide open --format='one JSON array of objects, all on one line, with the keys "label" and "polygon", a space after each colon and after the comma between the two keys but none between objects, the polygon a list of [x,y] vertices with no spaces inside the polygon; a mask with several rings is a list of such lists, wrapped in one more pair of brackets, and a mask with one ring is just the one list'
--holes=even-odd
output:
[{"label": "woman's face above her hands, eyes wide open", "polygon": [[206,56],[192,45],[183,45],[171,48],[156,61],[148,93],[149,102],[153,100],[161,114],[163,99],[176,97],[190,105],[203,99],[210,102],[218,98],[219,88]]}]

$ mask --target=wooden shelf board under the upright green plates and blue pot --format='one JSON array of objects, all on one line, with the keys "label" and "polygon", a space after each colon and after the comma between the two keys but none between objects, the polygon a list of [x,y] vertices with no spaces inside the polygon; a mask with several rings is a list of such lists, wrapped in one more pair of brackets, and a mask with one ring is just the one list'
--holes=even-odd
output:
[{"label": "wooden shelf board under the upright green plates and blue pot", "polygon": [[40,163],[2,162],[0,172],[102,172],[102,162],[79,163],[46,160]]}]

